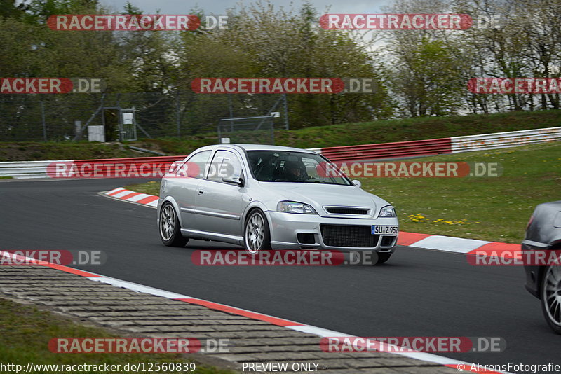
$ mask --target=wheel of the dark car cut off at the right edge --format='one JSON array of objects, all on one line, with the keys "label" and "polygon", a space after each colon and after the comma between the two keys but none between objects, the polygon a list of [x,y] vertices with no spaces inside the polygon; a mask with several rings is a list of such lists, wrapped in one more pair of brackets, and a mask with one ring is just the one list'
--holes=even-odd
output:
[{"label": "wheel of the dark car cut off at the right edge", "polygon": [[549,327],[561,334],[561,268],[550,266],[541,281],[541,310]]}]

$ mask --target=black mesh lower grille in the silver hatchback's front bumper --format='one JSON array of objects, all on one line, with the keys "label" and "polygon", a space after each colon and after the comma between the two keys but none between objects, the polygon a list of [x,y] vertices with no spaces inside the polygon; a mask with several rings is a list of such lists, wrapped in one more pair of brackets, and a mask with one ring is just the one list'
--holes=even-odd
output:
[{"label": "black mesh lower grille in the silver hatchback's front bumper", "polygon": [[323,243],[330,247],[376,247],[380,235],[370,226],[320,225]]}]

